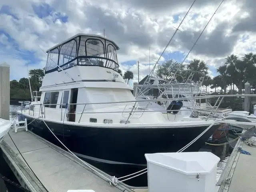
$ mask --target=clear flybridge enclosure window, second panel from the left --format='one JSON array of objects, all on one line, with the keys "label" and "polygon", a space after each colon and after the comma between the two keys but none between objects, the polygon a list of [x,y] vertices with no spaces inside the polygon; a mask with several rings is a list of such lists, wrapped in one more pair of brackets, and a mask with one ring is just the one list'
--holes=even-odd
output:
[{"label": "clear flybridge enclosure window, second panel from the left", "polygon": [[[77,44],[75,40],[72,40],[70,42],[67,42],[66,44],[63,44],[60,48],[60,59],[59,59],[59,66],[63,70],[66,68],[70,68],[74,65],[76,65],[76,49]],[[58,68],[58,71],[60,71],[60,68]]]}]

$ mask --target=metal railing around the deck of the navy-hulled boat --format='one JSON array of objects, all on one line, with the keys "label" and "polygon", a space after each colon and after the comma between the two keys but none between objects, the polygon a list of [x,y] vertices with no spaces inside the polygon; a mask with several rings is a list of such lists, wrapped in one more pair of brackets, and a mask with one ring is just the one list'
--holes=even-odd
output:
[{"label": "metal railing around the deck of the navy-hulled boat", "polygon": [[[200,107],[200,106],[192,106],[192,107],[184,107],[184,108],[180,108],[179,110],[154,110],[155,112],[173,112],[173,111],[194,111],[194,110],[197,110],[198,112],[202,111],[202,110],[208,110],[210,111],[209,113],[207,114],[204,114],[204,118],[206,118],[206,120],[208,120],[210,117],[218,117],[218,116],[215,116],[216,112],[218,111],[218,108],[220,107],[220,104],[222,103],[223,99],[225,97],[256,97],[255,94],[241,94],[241,95],[210,95],[210,96],[195,96],[195,97],[188,97],[188,98],[178,98],[178,100],[196,100],[196,99],[206,99],[206,98],[217,98],[214,106],[205,106],[204,108]],[[132,100],[132,101],[116,101],[116,102],[98,102],[98,103],[76,103],[76,104],[73,104],[73,103],[67,103],[66,106],[71,106],[71,105],[84,105],[84,108],[81,112],[75,112],[75,113],[72,113],[72,112],[68,112],[68,110],[65,109],[65,113],[68,115],[68,114],[81,114],[80,118],[79,118],[79,121],[81,120],[82,118],[82,115],[83,114],[100,114],[100,113],[122,113],[122,116],[124,118],[127,118],[126,120],[126,123],[128,122],[128,120],[130,118],[133,118],[134,114],[137,114],[137,118],[140,118],[142,116],[142,114],[144,114],[145,112],[152,112],[152,110],[149,110],[148,109],[148,106],[150,104],[150,102],[164,102],[164,101],[173,101],[173,100],[177,100],[177,98],[168,98],[168,99],[154,99],[154,100],[148,100],[148,99],[142,99],[142,100]],[[140,107],[140,104],[141,102],[146,102],[146,107]],[[22,103],[22,107],[24,107],[24,102],[21,102]],[[130,103],[130,104],[129,104]],[[117,111],[109,111],[109,112],[106,112],[106,111],[92,111],[92,110],[85,110],[86,106],[88,105],[104,105],[104,104],[124,104],[124,110],[117,110]],[[26,105],[29,105],[29,107],[25,108],[25,110],[29,110],[29,114],[30,115],[33,115],[35,116],[34,114],[34,107],[35,106],[40,106],[40,109],[39,109],[39,113],[40,114],[36,114],[38,115],[39,118],[45,118],[45,113],[46,113],[46,108],[48,108],[49,106],[61,106],[61,113],[62,112],[62,106],[63,104],[31,104],[31,103],[27,103],[26,102]],[[47,107],[46,107],[47,106]],[[154,106],[152,106],[154,107]],[[48,108],[48,110],[51,109],[51,108]],[[53,111],[56,111],[54,109],[52,109]],[[56,112],[60,112],[60,111],[56,111]],[[203,112],[202,112],[203,114]],[[136,117],[135,117],[136,118]],[[62,120],[62,115],[61,115],[61,120]]]}]

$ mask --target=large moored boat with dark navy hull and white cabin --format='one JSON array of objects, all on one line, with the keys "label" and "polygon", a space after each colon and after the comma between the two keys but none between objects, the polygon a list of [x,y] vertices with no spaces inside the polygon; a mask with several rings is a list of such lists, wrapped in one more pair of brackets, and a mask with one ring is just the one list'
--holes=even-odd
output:
[{"label": "large moored boat with dark navy hull and white cabin", "polygon": [[[118,73],[118,49],[105,37],[76,34],[47,50],[40,101],[22,102],[18,120],[117,178],[146,168],[144,154],[177,152],[213,125],[185,150],[198,151],[220,126],[216,118],[180,120],[140,106]],[[147,186],[147,175],[126,184]]]}]

